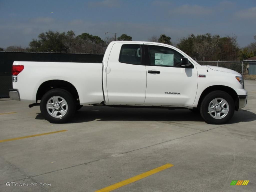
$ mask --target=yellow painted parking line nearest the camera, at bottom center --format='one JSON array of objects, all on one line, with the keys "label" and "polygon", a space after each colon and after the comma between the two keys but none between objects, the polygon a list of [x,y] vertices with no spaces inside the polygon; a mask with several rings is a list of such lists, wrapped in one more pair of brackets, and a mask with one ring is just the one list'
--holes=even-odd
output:
[{"label": "yellow painted parking line nearest the camera, at bottom center", "polygon": [[147,177],[147,176],[153,175],[153,174],[155,174],[155,173],[157,173],[157,172],[160,172],[160,171],[162,171],[162,170],[164,170],[164,169],[167,169],[167,168],[170,168],[170,167],[172,167],[172,166],[173,166],[173,164],[167,163],[167,164],[165,164],[165,165],[163,165],[163,166],[161,166],[161,167],[157,167],[157,168],[155,168],[155,169],[152,169],[152,170],[147,171],[147,172],[145,172],[145,173],[142,173],[142,174],[140,174],[140,175],[136,175],[136,176],[134,176],[134,177],[131,177],[131,178],[126,179],[126,180],[123,180],[123,181],[121,181],[121,182],[119,182],[119,183],[110,185],[110,186],[108,186],[108,187],[102,188],[102,189],[97,190],[97,191],[95,191],[95,192],[108,192],[108,191],[112,191],[112,190],[114,190],[114,189],[117,189],[117,188],[120,188],[120,187],[122,187],[122,186],[124,186],[124,185],[133,183],[133,182],[135,182],[135,181],[137,181],[137,180],[143,179],[143,178],[145,178],[145,177]]}]

